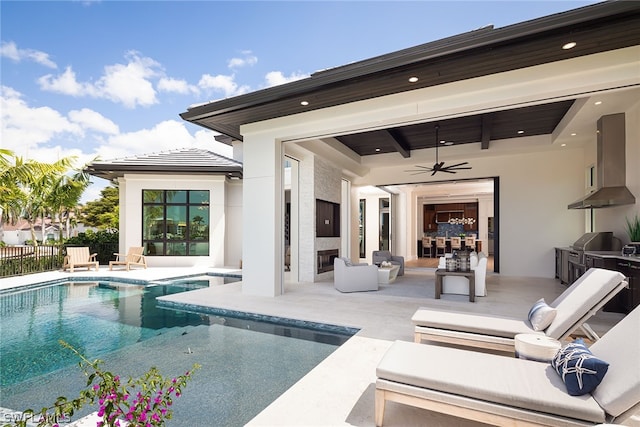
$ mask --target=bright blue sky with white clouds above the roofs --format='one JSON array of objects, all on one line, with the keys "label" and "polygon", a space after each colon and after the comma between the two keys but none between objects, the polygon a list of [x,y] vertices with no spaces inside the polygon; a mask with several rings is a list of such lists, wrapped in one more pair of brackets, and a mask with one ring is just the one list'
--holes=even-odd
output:
[{"label": "bright blue sky with white clouds above the roofs", "polygon": [[[231,157],[193,104],[593,1],[0,1],[0,147],[78,166],[174,148]],[[105,182],[84,200],[99,195]]]}]

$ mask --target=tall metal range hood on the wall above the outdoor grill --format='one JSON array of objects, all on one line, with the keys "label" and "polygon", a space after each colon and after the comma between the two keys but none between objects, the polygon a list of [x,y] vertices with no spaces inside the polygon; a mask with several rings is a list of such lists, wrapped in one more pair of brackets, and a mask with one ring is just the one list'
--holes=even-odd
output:
[{"label": "tall metal range hood on the wall above the outdoor grill", "polygon": [[606,208],[632,205],[636,198],[626,187],[624,113],[602,116],[598,120],[597,190],[576,200],[569,209]]}]

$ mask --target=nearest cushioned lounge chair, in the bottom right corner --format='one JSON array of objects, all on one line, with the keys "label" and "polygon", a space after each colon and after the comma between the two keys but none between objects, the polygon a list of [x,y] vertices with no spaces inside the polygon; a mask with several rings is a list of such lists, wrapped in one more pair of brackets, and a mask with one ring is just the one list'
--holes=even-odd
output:
[{"label": "nearest cushioned lounge chair, in the bottom right corner", "polygon": [[548,363],[396,341],[376,369],[375,423],[386,401],[497,426],[624,423],[640,410],[639,336],[637,307],[590,347],[609,367],[582,396]]}]

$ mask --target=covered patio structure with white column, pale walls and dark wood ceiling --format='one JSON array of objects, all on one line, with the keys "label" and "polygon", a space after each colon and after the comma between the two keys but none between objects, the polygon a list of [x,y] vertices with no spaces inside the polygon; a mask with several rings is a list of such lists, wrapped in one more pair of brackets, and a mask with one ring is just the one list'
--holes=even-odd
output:
[{"label": "covered patio structure with white column, pale walls and dark wood ceiling", "polygon": [[[219,132],[243,161],[243,293],[284,293],[285,234],[291,280],[322,282],[317,254],[361,256],[361,190],[387,191],[390,246],[417,257],[418,198],[411,188],[499,178],[494,201],[495,263],[501,274],[554,277],[554,250],[586,231],[624,233],[631,205],[568,209],[596,185],[596,122],[626,116],[627,186],[640,194],[640,9],[604,2],[505,28],[482,28],[377,58],[314,73],[258,92],[198,105],[181,117]],[[571,44],[569,44],[571,43]],[[444,165],[471,169],[415,175],[429,168],[435,128],[452,142]],[[283,165],[292,165],[286,199]],[[429,171],[430,172],[430,171]],[[318,200],[340,208],[341,233],[316,233]],[[287,207],[287,202],[290,207]],[[290,217],[287,217],[290,209]],[[260,212],[259,221],[256,213]],[[329,219],[327,218],[326,221]],[[287,229],[290,227],[290,229]]]}]

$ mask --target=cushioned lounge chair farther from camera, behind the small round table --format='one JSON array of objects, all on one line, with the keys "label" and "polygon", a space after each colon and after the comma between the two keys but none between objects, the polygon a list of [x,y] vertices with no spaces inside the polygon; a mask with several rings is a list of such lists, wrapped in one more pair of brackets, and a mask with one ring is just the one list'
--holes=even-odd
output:
[{"label": "cushioned lounge chair farther from camera, behind the small round table", "polygon": [[628,284],[623,274],[591,268],[551,304],[556,315],[544,331],[537,332],[527,319],[468,312],[419,308],[411,318],[414,340],[437,341],[466,347],[514,351],[517,334],[544,333],[563,340],[580,328],[592,340],[599,337],[585,322]]}]

